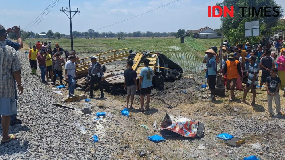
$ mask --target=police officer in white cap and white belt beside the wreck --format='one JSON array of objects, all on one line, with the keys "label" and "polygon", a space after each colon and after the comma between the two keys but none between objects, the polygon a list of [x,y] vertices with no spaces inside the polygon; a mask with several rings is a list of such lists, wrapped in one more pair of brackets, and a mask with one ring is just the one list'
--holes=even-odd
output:
[{"label": "police officer in white cap and white belt beside the wreck", "polygon": [[[101,98],[104,98],[104,91],[101,81],[103,81],[104,73],[100,63],[96,62],[97,57],[91,56],[91,62],[88,68],[88,80],[90,79],[90,98],[93,98],[94,84],[97,83],[101,91]],[[90,78],[91,77],[91,78]]]}]

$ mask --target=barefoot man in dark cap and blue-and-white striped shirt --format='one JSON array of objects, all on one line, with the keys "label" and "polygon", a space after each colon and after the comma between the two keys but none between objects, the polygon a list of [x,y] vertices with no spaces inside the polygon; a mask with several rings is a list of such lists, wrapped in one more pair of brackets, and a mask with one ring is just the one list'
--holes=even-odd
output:
[{"label": "barefoot man in dark cap and blue-and-white striped shirt", "polygon": [[255,97],[256,97],[256,86],[258,85],[258,65],[255,63],[256,56],[250,56],[246,58],[249,61],[249,70],[247,72],[248,80],[247,84],[245,85],[243,91],[243,99],[241,100],[242,103],[245,103],[245,98],[247,97],[247,91],[251,89],[252,91],[252,102],[251,105],[255,105]]}]

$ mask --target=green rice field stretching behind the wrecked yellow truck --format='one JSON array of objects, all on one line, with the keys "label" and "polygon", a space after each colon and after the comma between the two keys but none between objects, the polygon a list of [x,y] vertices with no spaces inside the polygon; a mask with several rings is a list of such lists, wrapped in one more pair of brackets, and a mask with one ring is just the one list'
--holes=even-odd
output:
[{"label": "green rice field stretching behind the wrecked yellow truck", "polygon": [[[41,41],[42,39],[27,39],[24,43],[28,46],[29,41],[35,44],[38,40]],[[179,64],[183,68],[184,73],[192,73],[200,72],[204,68],[202,66],[203,54],[201,51],[214,44],[218,46],[219,40],[195,39],[193,42],[196,45],[200,44],[200,50],[197,50],[197,48],[187,42],[180,43],[180,39],[176,38],[128,38],[128,43],[126,39],[124,42],[117,38],[96,38],[95,40],[74,38],[73,43],[74,50],[81,58],[123,48],[129,48],[129,50],[134,52],[153,51],[165,54],[172,61]],[[43,41],[48,42],[49,40],[43,39]],[[64,50],[71,50],[70,39],[52,39],[52,48],[54,48],[55,43],[58,43]],[[28,50],[27,47],[24,49]]]}]

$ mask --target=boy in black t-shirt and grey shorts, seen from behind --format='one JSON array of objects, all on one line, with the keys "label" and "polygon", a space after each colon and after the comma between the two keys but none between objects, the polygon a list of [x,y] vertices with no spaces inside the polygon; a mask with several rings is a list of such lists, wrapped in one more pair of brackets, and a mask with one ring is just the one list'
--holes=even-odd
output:
[{"label": "boy in black t-shirt and grey shorts, seen from behind", "polygon": [[132,69],[134,65],[133,60],[128,61],[128,69],[125,69],[124,71],[124,77],[125,77],[125,90],[127,90],[128,96],[127,96],[127,105],[125,106],[128,108],[129,106],[129,100],[131,96],[131,106],[130,109],[133,109],[133,102],[134,102],[134,96],[136,95],[136,91],[138,91],[138,85],[137,85],[137,73],[135,70]]}]

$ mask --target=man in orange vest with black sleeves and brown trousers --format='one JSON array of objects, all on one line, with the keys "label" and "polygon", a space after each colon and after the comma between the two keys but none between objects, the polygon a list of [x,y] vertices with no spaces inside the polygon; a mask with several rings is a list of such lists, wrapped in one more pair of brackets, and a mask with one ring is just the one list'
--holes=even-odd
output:
[{"label": "man in orange vest with black sleeves and brown trousers", "polygon": [[224,66],[223,76],[227,73],[227,90],[231,90],[231,98],[229,101],[233,101],[235,99],[235,82],[239,75],[241,76],[241,80],[243,79],[243,75],[241,73],[241,65],[238,60],[234,59],[235,54],[230,53],[229,57]]}]

